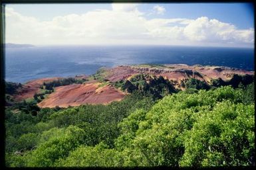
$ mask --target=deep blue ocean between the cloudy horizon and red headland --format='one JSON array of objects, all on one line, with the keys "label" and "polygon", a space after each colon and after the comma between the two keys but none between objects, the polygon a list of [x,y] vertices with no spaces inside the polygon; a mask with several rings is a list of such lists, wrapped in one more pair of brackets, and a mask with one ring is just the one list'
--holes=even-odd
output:
[{"label": "deep blue ocean between the cloudy horizon and red headland", "polygon": [[223,65],[254,70],[253,48],[184,46],[36,46],[5,49],[5,79],[91,75],[100,67],[128,64]]}]

